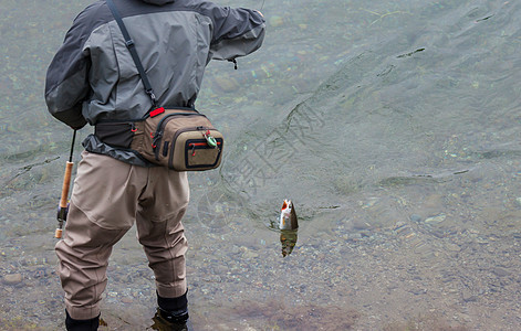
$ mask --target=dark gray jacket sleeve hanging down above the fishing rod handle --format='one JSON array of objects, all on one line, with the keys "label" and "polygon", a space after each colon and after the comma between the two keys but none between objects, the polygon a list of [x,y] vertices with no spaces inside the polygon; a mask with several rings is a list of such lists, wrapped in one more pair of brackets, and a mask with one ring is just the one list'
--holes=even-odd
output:
[{"label": "dark gray jacket sleeve hanging down above the fishing rod handle", "polygon": [[73,128],[86,124],[82,103],[90,94],[88,52],[83,51],[88,32],[82,13],[74,20],[63,45],[52,60],[45,79],[45,103],[49,113]]}]

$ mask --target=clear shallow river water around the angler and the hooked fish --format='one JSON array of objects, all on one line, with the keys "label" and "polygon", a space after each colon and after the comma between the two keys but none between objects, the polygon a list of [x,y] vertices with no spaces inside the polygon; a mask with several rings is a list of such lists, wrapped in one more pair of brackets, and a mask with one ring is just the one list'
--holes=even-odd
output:
[{"label": "clear shallow river water around the angler and the hooked fish", "polygon": [[[90,2],[1,2],[0,329],[62,330],[53,233],[72,132],[43,85]],[[210,63],[197,104],[227,149],[190,174],[196,330],[519,330],[521,2],[220,3],[262,8],[268,33],[238,71]],[[285,257],[284,199],[300,221]],[[134,229],[108,279],[101,329],[152,330]]]}]

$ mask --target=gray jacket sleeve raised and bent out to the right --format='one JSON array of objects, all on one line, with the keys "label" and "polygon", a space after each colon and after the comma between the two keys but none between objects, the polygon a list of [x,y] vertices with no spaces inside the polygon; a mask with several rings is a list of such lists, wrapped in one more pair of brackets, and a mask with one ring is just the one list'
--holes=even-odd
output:
[{"label": "gray jacket sleeve raised and bent out to the right", "polygon": [[257,51],[264,40],[265,22],[256,10],[229,7],[213,9],[211,58],[233,60]]}]

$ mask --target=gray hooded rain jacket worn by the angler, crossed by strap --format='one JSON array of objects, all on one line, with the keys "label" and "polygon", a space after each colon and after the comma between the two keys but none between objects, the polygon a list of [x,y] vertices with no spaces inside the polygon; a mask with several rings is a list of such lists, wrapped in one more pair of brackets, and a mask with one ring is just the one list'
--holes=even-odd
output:
[{"label": "gray hooded rain jacket worn by the angler, crossed by strap", "polygon": [[[262,15],[206,0],[114,0],[136,44],[158,106],[194,107],[210,60],[235,60],[258,50]],[[100,120],[139,119],[152,107],[123,34],[97,1],[74,20],[48,70],[49,111],[71,127]],[[86,150],[137,166],[134,152],[103,143],[94,135]]]}]

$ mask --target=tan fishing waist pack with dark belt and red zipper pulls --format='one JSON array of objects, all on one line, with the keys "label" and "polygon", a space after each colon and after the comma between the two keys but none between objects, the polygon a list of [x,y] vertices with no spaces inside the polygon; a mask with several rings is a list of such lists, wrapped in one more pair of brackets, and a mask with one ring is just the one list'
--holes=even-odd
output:
[{"label": "tan fishing waist pack with dark belt and red zipper pulls", "polygon": [[202,114],[190,108],[157,108],[143,120],[100,122],[104,143],[131,149],[147,161],[176,171],[218,168],[223,137]]}]

